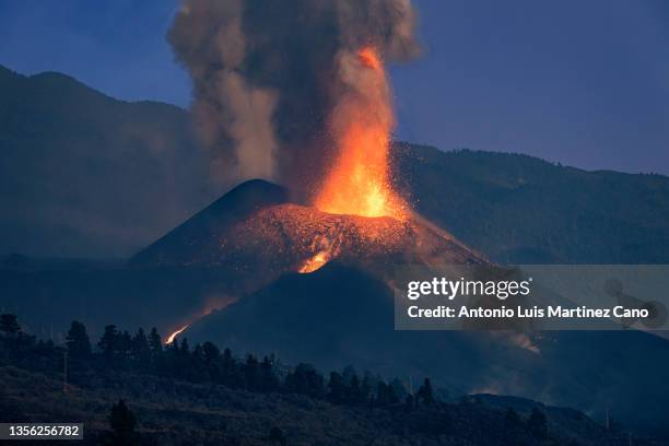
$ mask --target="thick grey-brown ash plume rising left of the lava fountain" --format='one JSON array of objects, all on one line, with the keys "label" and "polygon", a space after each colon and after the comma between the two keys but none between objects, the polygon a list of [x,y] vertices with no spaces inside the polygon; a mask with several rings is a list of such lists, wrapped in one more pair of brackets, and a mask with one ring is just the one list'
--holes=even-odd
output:
[{"label": "thick grey-brown ash plume rising left of the lava fountain", "polygon": [[341,60],[366,46],[408,60],[414,28],[410,0],[184,0],[167,38],[193,82],[212,178],[308,189],[333,156],[333,109],[364,87]]}]

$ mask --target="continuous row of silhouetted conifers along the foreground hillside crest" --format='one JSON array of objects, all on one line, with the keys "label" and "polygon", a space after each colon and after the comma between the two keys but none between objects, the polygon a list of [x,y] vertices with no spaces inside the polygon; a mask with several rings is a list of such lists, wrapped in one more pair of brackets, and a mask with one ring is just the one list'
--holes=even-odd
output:
[{"label": "continuous row of silhouetted conifers along the foreground hillside crest", "polygon": [[399,379],[386,382],[378,375],[359,375],[352,366],[324,376],[309,364],[295,367],[280,366],[273,355],[261,359],[247,354],[233,356],[230,349],[221,351],[213,342],[190,347],[188,339],[175,338],[165,344],[155,328],[142,328],[130,333],[108,325],[93,344],[86,327],[72,321],[64,347],[51,341],[36,341],[22,332],[14,315],[0,316],[0,336],[14,339],[16,345],[37,350],[64,349],[72,372],[78,368],[117,368],[151,373],[190,383],[219,384],[258,392],[291,392],[334,404],[387,407],[404,404],[407,409],[437,402],[430,378],[425,378],[415,394]]}]

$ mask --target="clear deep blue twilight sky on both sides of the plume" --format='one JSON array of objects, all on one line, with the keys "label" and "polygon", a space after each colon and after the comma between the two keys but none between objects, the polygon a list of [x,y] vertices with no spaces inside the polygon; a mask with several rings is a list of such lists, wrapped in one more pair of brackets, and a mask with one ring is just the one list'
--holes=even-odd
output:
[{"label": "clear deep blue twilight sky on both sides of the plume", "polygon": [[[420,0],[423,57],[392,67],[398,138],[669,174],[669,2]],[[176,0],[0,0],[0,64],[188,106]]]}]

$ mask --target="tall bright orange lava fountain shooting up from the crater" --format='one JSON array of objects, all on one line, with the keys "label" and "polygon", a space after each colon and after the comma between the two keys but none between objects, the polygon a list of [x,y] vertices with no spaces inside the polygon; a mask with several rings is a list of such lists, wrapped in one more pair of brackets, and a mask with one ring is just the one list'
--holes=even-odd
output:
[{"label": "tall bright orange lava fountain shooting up from the crater", "polygon": [[404,203],[390,185],[394,114],[383,62],[372,47],[343,54],[339,62],[347,93],[330,117],[338,157],[315,204],[329,213],[402,220]]}]

